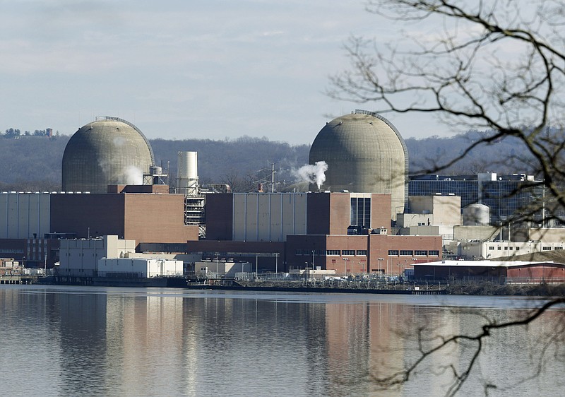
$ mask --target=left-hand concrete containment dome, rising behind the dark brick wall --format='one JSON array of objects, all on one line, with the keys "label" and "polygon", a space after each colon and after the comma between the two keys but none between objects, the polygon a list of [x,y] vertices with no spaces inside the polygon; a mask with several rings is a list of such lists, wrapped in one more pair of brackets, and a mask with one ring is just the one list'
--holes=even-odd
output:
[{"label": "left-hand concrete containment dome, rising behind the dark brick wall", "polygon": [[62,189],[106,193],[109,184],[142,184],[154,163],[153,149],[136,126],[117,117],[97,117],[66,145]]}]

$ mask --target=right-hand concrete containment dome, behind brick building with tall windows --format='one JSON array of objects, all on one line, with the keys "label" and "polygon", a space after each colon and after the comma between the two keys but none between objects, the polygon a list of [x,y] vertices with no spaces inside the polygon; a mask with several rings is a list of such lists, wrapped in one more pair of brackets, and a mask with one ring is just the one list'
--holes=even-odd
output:
[{"label": "right-hand concrete containment dome, behind brick building with tall windows", "polygon": [[[391,218],[408,198],[408,150],[398,130],[374,112],[355,110],[321,129],[310,148],[309,163],[328,164],[321,190],[390,193]],[[310,184],[310,190],[318,186]]]}]

